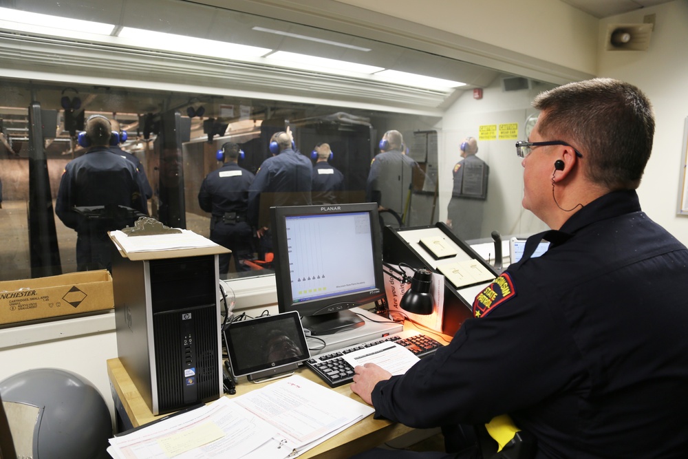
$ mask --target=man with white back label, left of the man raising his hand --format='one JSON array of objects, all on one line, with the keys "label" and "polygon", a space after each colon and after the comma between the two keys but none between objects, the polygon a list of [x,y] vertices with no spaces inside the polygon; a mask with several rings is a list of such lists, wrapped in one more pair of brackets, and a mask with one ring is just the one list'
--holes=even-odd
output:
[{"label": "man with white back label, left of the man raising his hand", "polygon": [[211,215],[211,241],[232,250],[231,254],[219,255],[219,272],[229,271],[229,258],[234,255],[237,272],[248,271],[241,260],[252,258],[251,227],[246,220],[248,187],[254,175],[239,167],[239,156],[244,151],[239,145],[227,142],[217,152],[222,167],[208,174],[198,192],[198,204]]}]

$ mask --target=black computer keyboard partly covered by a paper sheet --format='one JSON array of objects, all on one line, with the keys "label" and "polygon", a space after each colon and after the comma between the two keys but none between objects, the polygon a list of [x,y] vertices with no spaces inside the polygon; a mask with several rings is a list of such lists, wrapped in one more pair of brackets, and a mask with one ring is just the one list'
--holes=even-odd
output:
[{"label": "black computer keyboard partly covered by a paper sheet", "polygon": [[391,334],[388,337],[367,341],[347,348],[327,352],[327,354],[314,356],[307,360],[305,364],[310,370],[323,379],[325,383],[330,385],[330,387],[348,384],[351,383],[354,378],[354,368],[343,359],[343,355],[388,341],[394,341],[404,346],[419,357],[432,354],[442,346],[438,341],[435,341],[427,335],[416,332],[416,330],[404,330]]}]

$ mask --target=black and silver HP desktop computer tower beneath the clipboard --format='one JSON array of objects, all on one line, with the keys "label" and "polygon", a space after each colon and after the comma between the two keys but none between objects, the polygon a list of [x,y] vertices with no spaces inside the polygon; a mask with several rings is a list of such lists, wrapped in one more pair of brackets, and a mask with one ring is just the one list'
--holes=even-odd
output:
[{"label": "black and silver HP desktop computer tower beneath the clipboard", "polygon": [[217,279],[217,255],[113,257],[118,356],[155,415],[222,394]]}]

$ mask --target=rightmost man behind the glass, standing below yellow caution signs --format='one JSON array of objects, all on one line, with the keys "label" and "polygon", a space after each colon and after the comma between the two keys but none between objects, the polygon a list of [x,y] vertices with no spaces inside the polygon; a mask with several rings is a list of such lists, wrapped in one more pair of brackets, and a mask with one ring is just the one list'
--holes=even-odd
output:
[{"label": "rightmost man behind the glass, standing below yellow caution signs", "polygon": [[475,137],[464,139],[460,151],[464,159],[454,166],[454,187],[447,206],[447,225],[465,241],[481,236],[490,167],[475,156]]}]

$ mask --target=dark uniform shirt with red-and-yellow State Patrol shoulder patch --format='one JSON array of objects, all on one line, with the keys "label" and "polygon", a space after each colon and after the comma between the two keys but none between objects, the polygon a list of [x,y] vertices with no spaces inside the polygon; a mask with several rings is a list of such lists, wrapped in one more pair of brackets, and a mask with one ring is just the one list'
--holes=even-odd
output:
[{"label": "dark uniform shirt with red-and-yellow State Patrol shoulder patch", "polygon": [[688,250],[635,191],[549,233],[544,255],[476,297],[447,347],[376,385],[376,416],[436,427],[510,414],[537,458],[685,457]]}]

